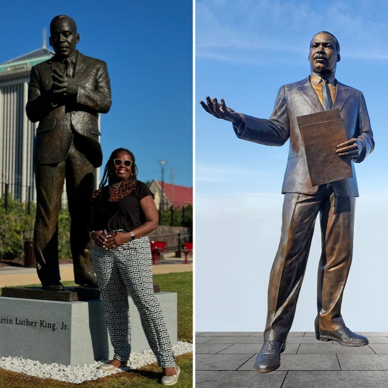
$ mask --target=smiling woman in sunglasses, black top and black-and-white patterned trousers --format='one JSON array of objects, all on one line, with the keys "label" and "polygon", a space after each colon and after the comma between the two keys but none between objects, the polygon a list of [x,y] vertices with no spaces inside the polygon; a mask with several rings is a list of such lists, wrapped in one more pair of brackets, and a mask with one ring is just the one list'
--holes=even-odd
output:
[{"label": "smiling woman in sunglasses, black top and black-and-white patterned trousers", "polygon": [[[90,238],[92,261],[101,290],[109,334],[111,361],[101,365],[113,371],[127,365],[130,354],[128,291],[139,310],[143,330],[163,368],[162,384],[178,381],[171,342],[152,284],[151,248],[147,234],[158,226],[153,194],[137,180],[132,152],[115,149],[93,196]],[[106,185],[107,184],[107,185]],[[106,232],[108,230],[108,233]]]}]

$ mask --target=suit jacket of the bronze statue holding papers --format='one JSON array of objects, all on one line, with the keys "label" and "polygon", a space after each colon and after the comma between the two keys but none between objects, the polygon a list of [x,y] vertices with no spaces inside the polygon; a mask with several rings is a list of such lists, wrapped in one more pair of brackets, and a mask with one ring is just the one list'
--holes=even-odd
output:
[{"label": "suit jacket of the bronze statue holding papers", "polygon": [[[359,90],[337,81],[333,109],[338,108],[344,121],[348,139],[355,137],[362,142],[363,150],[354,159],[362,162],[373,150],[374,141],[364,96]],[[296,117],[323,111],[323,106],[312,88],[309,77],[302,81],[281,86],[269,120],[243,115],[237,136],[244,140],[268,146],[282,146],[290,138],[290,151],[282,193],[315,194],[308,175],[306,153]],[[352,161],[353,178],[333,182],[338,196],[358,196],[356,172]]]}]

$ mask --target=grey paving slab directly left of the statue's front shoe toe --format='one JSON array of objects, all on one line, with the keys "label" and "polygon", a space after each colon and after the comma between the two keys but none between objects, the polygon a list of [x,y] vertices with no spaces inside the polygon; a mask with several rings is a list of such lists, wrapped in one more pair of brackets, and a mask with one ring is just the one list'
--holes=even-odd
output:
[{"label": "grey paving slab directly left of the statue's front shoe toe", "polygon": [[[252,355],[196,355],[195,369],[197,371],[236,371]],[[252,368],[253,370],[253,364]]]}]

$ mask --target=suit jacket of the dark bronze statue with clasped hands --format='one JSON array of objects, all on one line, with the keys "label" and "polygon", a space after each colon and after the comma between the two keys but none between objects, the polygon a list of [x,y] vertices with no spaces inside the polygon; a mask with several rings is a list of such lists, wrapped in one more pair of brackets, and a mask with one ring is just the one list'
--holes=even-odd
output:
[{"label": "suit jacket of the dark bronze statue with clasped hands", "polygon": [[39,121],[34,163],[65,160],[76,132],[81,135],[77,135],[81,151],[94,167],[99,167],[102,152],[98,142],[98,114],[109,112],[112,104],[107,65],[78,52],[73,73],[79,85],[77,96],[53,93],[54,67],[63,72],[55,56],[33,66],[31,71],[26,112],[32,122]]}]

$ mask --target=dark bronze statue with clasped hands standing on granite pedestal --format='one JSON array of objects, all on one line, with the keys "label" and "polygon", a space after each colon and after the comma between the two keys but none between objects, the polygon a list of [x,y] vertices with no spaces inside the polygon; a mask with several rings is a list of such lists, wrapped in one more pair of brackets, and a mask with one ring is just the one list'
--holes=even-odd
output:
[{"label": "dark bronze statue with clasped hands standing on granite pedestal", "polygon": [[34,250],[45,290],[63,290],[58,264],[58,217],[66,178],[71,217],[70,245],[75,282],[98,287],[87,228],[95,169],[102,163],[99,113],[112,104],[106,63],[76,50],[75,21],[65,15],[50,23],[55,55],[32,67],[27,116],[39,121],[33,148],[37,192]]}]

